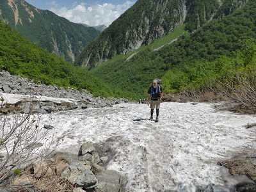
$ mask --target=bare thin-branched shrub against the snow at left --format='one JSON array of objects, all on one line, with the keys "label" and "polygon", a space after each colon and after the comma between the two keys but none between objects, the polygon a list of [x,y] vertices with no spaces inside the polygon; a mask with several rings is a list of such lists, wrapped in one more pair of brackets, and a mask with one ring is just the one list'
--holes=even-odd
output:
[{"label": "bare thin-branched shrub against the snow at left", "polygon": [[[54,140],[54,129],[40,127],[40,115],[33,114],[35,100],[25,101],[24,104],[29,105],[26,114],[15,112],[15,106],[4,102],[3,97],[0,102],[0,154],[3,157],[0,161],[0,180],[3,180],[13,169],[19,170],[26,163],[51,154],[62,140]],[[47,138],[50,131],[51,138]]]}]

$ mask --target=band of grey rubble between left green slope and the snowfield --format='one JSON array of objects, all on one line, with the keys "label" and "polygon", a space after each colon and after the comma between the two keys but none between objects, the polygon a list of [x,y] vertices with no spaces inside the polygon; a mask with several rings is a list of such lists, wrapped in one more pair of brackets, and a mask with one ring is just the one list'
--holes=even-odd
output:
[{"label": "band of grey rubble between left green slope and the snowfield", "polygon": [[[115,98],[94,98],[87,90],[64,89],[56,86],[36,84],[26,78],[19,78],[10,75],[9,72],[0,72],[0,97],[1,93],[12,93],[24,95],[24,100],[16,103],[9,103],[4,106],[2,113],[18,111],[19,113],[29,113],[33,106],[33,113],[52,113],[72,109],[102,108],[113,104],[128,102],[125,99]],[[29,95],[34,95],[30,97]],[[36,95],[36,96],[35,96]],[[52,101],[40,98],[40,96],[65,98],[65,101]]]}]

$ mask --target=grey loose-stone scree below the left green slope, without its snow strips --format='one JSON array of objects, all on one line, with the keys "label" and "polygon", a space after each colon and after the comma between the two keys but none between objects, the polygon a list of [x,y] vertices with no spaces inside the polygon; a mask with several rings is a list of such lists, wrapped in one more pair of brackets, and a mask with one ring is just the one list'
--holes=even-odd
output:
[{"label": "grey loose-stone scree below the left green slope, without its snow strips", "polygon": [[[74,90],[72,88],[58,88],[52,85],[34,83],[33,80],[26,78],[20,78],[17,76],[11,76],[9,72],[2,71],[0,75],[0,92],[21,94],[21,95],[42,95],[48,97],[68,98],[79,100],[79,102],[72,103],[70,106],[54,104],[52,102],[41,101],[40,108],[35,108],[33,113],[52,113],[56,111],[74,110],[74,109],[87,109],[87,108],[104,108],[113,104],[127,102],[125,99],[115,99],[97,97],[93,98],[92,93],[87,90]],[[29,100],[29,98],[28,98]],[[30,100],[32,101],[32,100]],[[29,113],[28,107],[24,107],[24,111],[18,111],[19,113]]]}]

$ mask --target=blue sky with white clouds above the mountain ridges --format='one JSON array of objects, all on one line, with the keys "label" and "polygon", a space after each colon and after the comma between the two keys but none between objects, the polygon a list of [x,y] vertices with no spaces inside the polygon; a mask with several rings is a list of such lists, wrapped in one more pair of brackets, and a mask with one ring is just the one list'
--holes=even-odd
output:
[{"label": "blue sky with white clouds above the mountain ridges", "polygon": [[137,0],[26,0],[36,8],[50,10],[71,22],[109,26]]}]

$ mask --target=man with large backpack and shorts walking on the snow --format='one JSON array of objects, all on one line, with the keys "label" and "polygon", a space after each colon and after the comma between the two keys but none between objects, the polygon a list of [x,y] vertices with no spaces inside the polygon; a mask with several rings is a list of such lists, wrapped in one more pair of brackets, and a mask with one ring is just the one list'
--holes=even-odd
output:
[{"label": "man with large backpack and shorts walking on the snow", "polygon": [[158,122],[160,102],[163,97],[163,88],[157,84],[157,79],[153,80],[152,86],[148,89],[147,104],[150,110],[150,119],[153,120],[154,108],[156,106],[156,122]]}]

